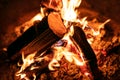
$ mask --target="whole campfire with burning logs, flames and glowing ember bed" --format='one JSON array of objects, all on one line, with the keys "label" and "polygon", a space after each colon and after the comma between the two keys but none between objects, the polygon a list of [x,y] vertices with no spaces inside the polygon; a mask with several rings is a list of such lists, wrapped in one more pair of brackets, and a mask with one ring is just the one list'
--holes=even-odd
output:
[{"label": "whole campfire with burning logs, flames and glowing ember bed", "polygon": [[4,49],[15,80],[106,79],[103,62],[120,46],[120,35],[109,32],[109,18],[81,17],[81,2],[42,0],[40,13],[15,28],[17,39]]}]

